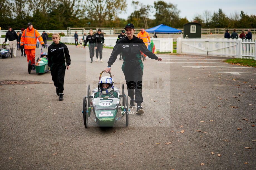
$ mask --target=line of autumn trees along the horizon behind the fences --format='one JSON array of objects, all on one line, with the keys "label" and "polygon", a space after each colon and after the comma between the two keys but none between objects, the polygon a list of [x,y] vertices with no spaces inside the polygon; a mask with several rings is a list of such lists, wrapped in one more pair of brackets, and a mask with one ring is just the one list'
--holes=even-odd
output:
[{"label": "line of autumn trees along the horizon behind the fences", "polygon": [[[128,22],[135,27],[154,27],[165,24],[183,27],[186,17],[179,17],[177,5],[165,1],[155,1],[153,6],[132,1],[134,11],[126,19],[118,14],[126,11],[126,0],[0,0],[0,27],[14,29],[27,27],[32,22],[36,29],[65,30],[67,27],[124,27]],[[154,19],[149,18],[155,11]],[[222,9],[211,14],[195,14],[190,22],[200,22],[202,27],[256,28],[256,16],[243,11],[227,16]],[[90,23],[90,25],[89,25]]]}]

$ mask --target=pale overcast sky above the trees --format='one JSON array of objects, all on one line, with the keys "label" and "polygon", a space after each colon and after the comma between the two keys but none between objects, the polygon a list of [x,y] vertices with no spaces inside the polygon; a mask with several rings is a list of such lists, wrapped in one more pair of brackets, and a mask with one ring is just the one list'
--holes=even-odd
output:
[{"label": "pale overcast sky above the trees", "polygon": [[[154,1],[157,0],[134,0],[139,1],[145,5],[149,4],[154,6]],[[241,0],[163,0],[165,2],[171,2],[172,4],[176,4],[177,8],[180,10],[179,16],[184,18],[187,17],[189,21],[193,19],[193,17],[198,14],[202,14],[203,11],[208,10],[213,14],[213,12],[217,12],[219,8],[227,15],[234,14],[237,12],[240,14],[240,11],[244,11],[246,14],[254,14],[256,15],[256,1],[241,1]],[[127,17],[134,11],[134,8],[131,6],[132,0],[126,0],[127,2],[127,11],[126,13],[119,14],[120,18],[127,19]],[[151,19],[154,19],[154,12],[152,11]]]}]

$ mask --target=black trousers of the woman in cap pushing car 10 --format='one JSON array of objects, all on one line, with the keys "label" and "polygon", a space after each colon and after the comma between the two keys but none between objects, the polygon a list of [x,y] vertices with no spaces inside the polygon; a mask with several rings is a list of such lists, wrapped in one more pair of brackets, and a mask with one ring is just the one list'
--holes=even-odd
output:
[{"label": "black trousers of the woman in cap pushing car 10", "polygon": [[141,60],[124,61],[122,65],[125,81],[127,85],[128,96],[134,98],[135,102],[142,103],[142,75],[143,63]]}]

